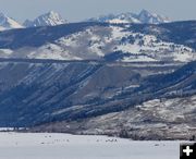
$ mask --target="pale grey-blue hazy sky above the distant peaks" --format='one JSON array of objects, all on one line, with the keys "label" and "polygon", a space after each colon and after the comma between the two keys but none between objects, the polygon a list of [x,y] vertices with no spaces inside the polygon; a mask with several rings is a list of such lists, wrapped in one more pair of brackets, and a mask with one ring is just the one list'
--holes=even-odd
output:
[{"label": "pale grey-blue hazy sky above the distant peaks", "polygon": [[174,21],[196,20],[196,0],[0,0],[0,12],[21,22],[50,10],[76,22],[108,13],[138,13],[142,9]]}]

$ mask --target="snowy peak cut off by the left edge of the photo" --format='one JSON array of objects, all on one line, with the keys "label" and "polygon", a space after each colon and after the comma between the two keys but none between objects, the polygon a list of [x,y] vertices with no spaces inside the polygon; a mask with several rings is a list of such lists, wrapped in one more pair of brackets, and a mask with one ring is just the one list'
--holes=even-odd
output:
[{"label": "snowy peak cut off by the left edge of the photo", "polygon": [[8,17],[5,14],[0,13],[0,30],[12,29],[12,28],[22,28],[23,26],[14,21],[11,17]]}]

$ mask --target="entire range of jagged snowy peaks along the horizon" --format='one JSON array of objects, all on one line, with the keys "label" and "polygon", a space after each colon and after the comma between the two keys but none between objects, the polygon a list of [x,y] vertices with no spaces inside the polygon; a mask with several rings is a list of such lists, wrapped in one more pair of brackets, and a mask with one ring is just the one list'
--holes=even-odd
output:
[{"label": "entire range of jagged snowy peaks along the horizon", "polygon": [[[86,22],[86,21],[85,21]],[[142,24],[160,24],[168,23],[170,20],[168,17],[150,13],[143,10],[139,14],[134,13],[121,13],[118,15],[109,14],[100,17],[89,19],[87,22],[107,22],[107,23],[142,23]],[[35,20],[26,20],[23,24],[20,24],[15,20],[0,13],[0,30],[12,29],[12,28],[23,28],[23,27],[37,27],[37,26],[56,26],[61,24],[66,24],[68,21],[64,20],[59,13],[50,11],[48,13],[41,14]]]}]

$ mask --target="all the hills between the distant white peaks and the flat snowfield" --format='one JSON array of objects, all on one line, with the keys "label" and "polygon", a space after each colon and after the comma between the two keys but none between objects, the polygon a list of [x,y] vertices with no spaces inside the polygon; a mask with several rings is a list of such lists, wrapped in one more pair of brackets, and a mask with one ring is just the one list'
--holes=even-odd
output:
[{"label": "all the hills between the distant white peaks and the flat snowfield", "polygon": [[1,32],[0,126],[195,139],[195,28],[85,22]]}]

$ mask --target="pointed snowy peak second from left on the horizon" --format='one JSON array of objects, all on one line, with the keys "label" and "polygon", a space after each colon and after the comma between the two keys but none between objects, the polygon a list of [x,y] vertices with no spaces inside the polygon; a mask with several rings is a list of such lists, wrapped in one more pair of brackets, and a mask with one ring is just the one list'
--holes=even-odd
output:
[{"label": "pointed snowy peak second from left on the horizon", "polygon": [[62,16],[54,12],[50,11],[46,14],[42,14],[35,19],[34,21],[26,20],[24,22],[25,27],[36,27],[36,26],[56,26],[68,23]]}]

